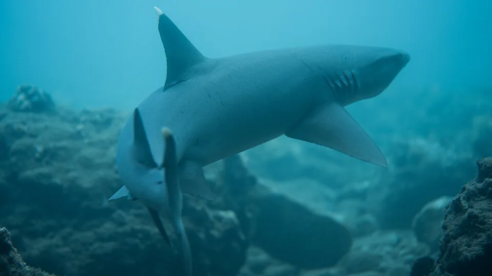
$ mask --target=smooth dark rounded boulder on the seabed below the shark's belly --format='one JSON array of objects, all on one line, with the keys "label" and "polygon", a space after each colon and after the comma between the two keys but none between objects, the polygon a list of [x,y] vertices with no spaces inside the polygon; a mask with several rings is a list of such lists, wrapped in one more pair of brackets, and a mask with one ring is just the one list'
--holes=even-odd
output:
[{"label": "smooth dark rounded boulder on the seabed below the shark's belly", "polygon": [[274,193],[258,196],[255,204],[253,242],[276,259],[302,268],[330,267],[350,250],[350,232],[329,216]]}]

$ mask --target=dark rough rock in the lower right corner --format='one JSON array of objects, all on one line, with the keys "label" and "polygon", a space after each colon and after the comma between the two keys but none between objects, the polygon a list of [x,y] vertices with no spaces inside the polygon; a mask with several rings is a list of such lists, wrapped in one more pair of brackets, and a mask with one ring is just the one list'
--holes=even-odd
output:
[{"label": "dark rough rock in the lower right corner", "polygon": [[[414,270],[422,271],[414,275],[492,274],[492,157],[478,161],[477,165],[477,177],[446,206],[436,264],[428,258],[420,259]],[[427,271],[422,267],[427,267]]]}]

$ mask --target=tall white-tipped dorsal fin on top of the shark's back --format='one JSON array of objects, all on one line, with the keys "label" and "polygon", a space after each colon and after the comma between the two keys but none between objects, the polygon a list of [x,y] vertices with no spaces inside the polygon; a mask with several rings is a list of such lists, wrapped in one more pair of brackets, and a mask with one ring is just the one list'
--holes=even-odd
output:
[{"label": "tall white-tipped dorsal fin on top of the shark's back", "polygon": [[159,8],[157,12],[157,26],[160,39],[166,52],[167,77],[165,88],[186,78],[188,68],[206,59],[193,43],[176,27],[173,21]]}]

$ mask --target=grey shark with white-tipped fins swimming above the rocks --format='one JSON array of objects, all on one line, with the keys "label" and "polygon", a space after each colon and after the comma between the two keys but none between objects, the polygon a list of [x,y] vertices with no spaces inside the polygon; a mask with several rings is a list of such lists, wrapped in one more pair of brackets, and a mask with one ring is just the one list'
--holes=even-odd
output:
[{"label": "grey shark with white-tipped fins swimming above the rocks", "polygon": [[215,198],[204,166],[281,135],[387,166],[344,107],[381,94],[409,62],[408,53],[326,44],[210,58],[154,8],[167,76],[120,132],[116,166],[124,186],[109,200],[142,202],[171,245],[161,216],[170,218],[184,275],[193,270],[183,194]]}]

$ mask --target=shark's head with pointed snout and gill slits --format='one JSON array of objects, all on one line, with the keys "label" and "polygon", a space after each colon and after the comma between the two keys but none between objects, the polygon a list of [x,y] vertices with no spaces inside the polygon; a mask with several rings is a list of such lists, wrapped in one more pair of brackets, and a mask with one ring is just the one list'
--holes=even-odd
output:
[{"label": "shark's head with pointed snout and gill slits", "polygon": [[343,105],[381,94],[410,60],[403,51],[379,47],[329,45],[320,51],[312,61]]}]

